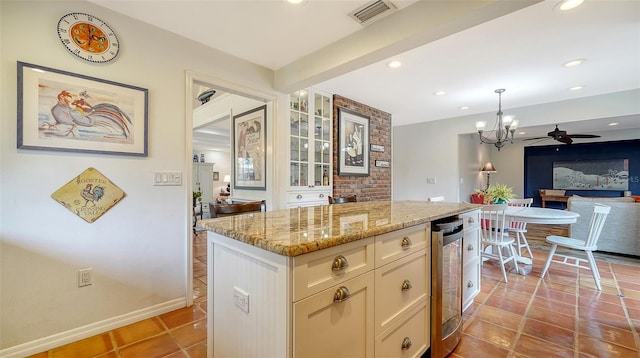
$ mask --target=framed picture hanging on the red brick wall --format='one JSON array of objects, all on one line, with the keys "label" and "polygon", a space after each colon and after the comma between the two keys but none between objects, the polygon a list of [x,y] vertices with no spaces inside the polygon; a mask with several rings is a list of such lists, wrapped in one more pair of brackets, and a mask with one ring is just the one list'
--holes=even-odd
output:
[{"label": "framed picture hanging on the red brick wall", "polygon": [[369,121],[338,108],[338,175],[369,175]]}]

